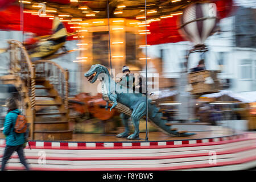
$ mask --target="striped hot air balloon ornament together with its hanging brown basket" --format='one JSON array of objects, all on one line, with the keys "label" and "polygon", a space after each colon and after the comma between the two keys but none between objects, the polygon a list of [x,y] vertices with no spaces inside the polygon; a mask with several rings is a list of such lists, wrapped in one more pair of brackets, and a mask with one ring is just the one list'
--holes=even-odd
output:
[{"label": "striped hot air balloon ornament together with its hanging brown basket", "polygon": [[[193,3],[186,7],[180,19],[181,35],[193,43],[193,48],[186,56],[185,67],[188,71],[188,58],[192,52],[207,52],[205,40],[218,30],[217,7],[215,3]],[[203,54],[204,55],[204,54]],[[203,93],[215,93],[220,89],[217,72],[203,70],[188,74],[187,90],[200,96]]]}]

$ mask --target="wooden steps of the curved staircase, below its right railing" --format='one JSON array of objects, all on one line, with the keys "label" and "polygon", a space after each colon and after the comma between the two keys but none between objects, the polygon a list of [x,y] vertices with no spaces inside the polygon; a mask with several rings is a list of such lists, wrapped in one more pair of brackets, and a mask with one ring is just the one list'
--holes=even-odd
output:
[{"label": "wooden steps of the curved staircase, below its right railing", "polygon": [[[35,140],[66,140],[72,138],[68,110],[54,86],[44,77],[36,77]],[[39,93],[39,94],[38,94]],[[57,116],[57,117],[56,117]]]}]

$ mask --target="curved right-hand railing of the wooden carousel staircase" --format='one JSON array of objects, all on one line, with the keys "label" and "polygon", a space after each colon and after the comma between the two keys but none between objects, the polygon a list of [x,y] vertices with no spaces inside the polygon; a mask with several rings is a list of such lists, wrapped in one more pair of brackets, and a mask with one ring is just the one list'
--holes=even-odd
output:
[{"label": "curved right-hand railing of the wooden carousel staircase", "polygon": [[63,99],[65,109],[68,109],[68,70],[49,60],[34,61],[33,64],[35,64],[36,78],[47,78]]}]

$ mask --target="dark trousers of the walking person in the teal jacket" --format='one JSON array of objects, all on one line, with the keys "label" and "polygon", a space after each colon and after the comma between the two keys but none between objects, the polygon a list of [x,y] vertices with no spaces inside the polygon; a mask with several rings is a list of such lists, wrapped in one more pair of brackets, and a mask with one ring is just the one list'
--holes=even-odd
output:
[{"label": "dark trousers of the walking person in the teal jacket", "polygon": [[20,163],[26,167],[27,171],[29,170],[26,159],[24,158],[24,152],[23,152],[23,144],[20,144],[19,146],[6,146],[5,147],[5,152],[3,153],[3,158],[2,158],[2,166],[1,166],[1,171],[5,169],[5,165],[7,161],[10,159],[11,155],[13,152],[17,152],[19,156]]}]

